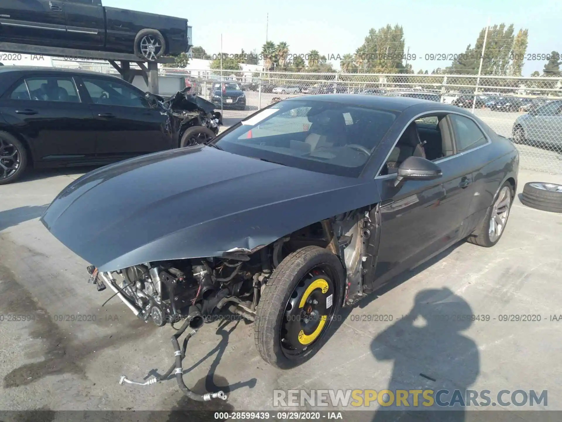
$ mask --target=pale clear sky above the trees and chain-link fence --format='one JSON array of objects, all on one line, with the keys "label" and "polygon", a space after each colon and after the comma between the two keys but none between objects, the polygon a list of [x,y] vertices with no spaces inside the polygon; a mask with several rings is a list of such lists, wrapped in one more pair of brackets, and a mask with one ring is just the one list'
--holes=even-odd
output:
[{"label": "pale clear sky above the trees and chain-link fence", "polygon": [[[450,61],[425,61],[430,53],[460,53],[474,44],[487,24],[505,23],[529,30],[527,53],[562,53],[562,1],[560,0],[103,0],[103,5],[185,17],[193,26],[193,43],[207,53],[237,53],[244,48],[260,52],[268,39],[285,41],[290,53],[305,54],[313,48],[320,55],[352,53],[370,28],[400,24],[405,45],[418,59],[414,70],[433,70]],[[526,61],[523,75],[542,72],[544,60]],[[334,63],[339,68],[339,63]]]}]

